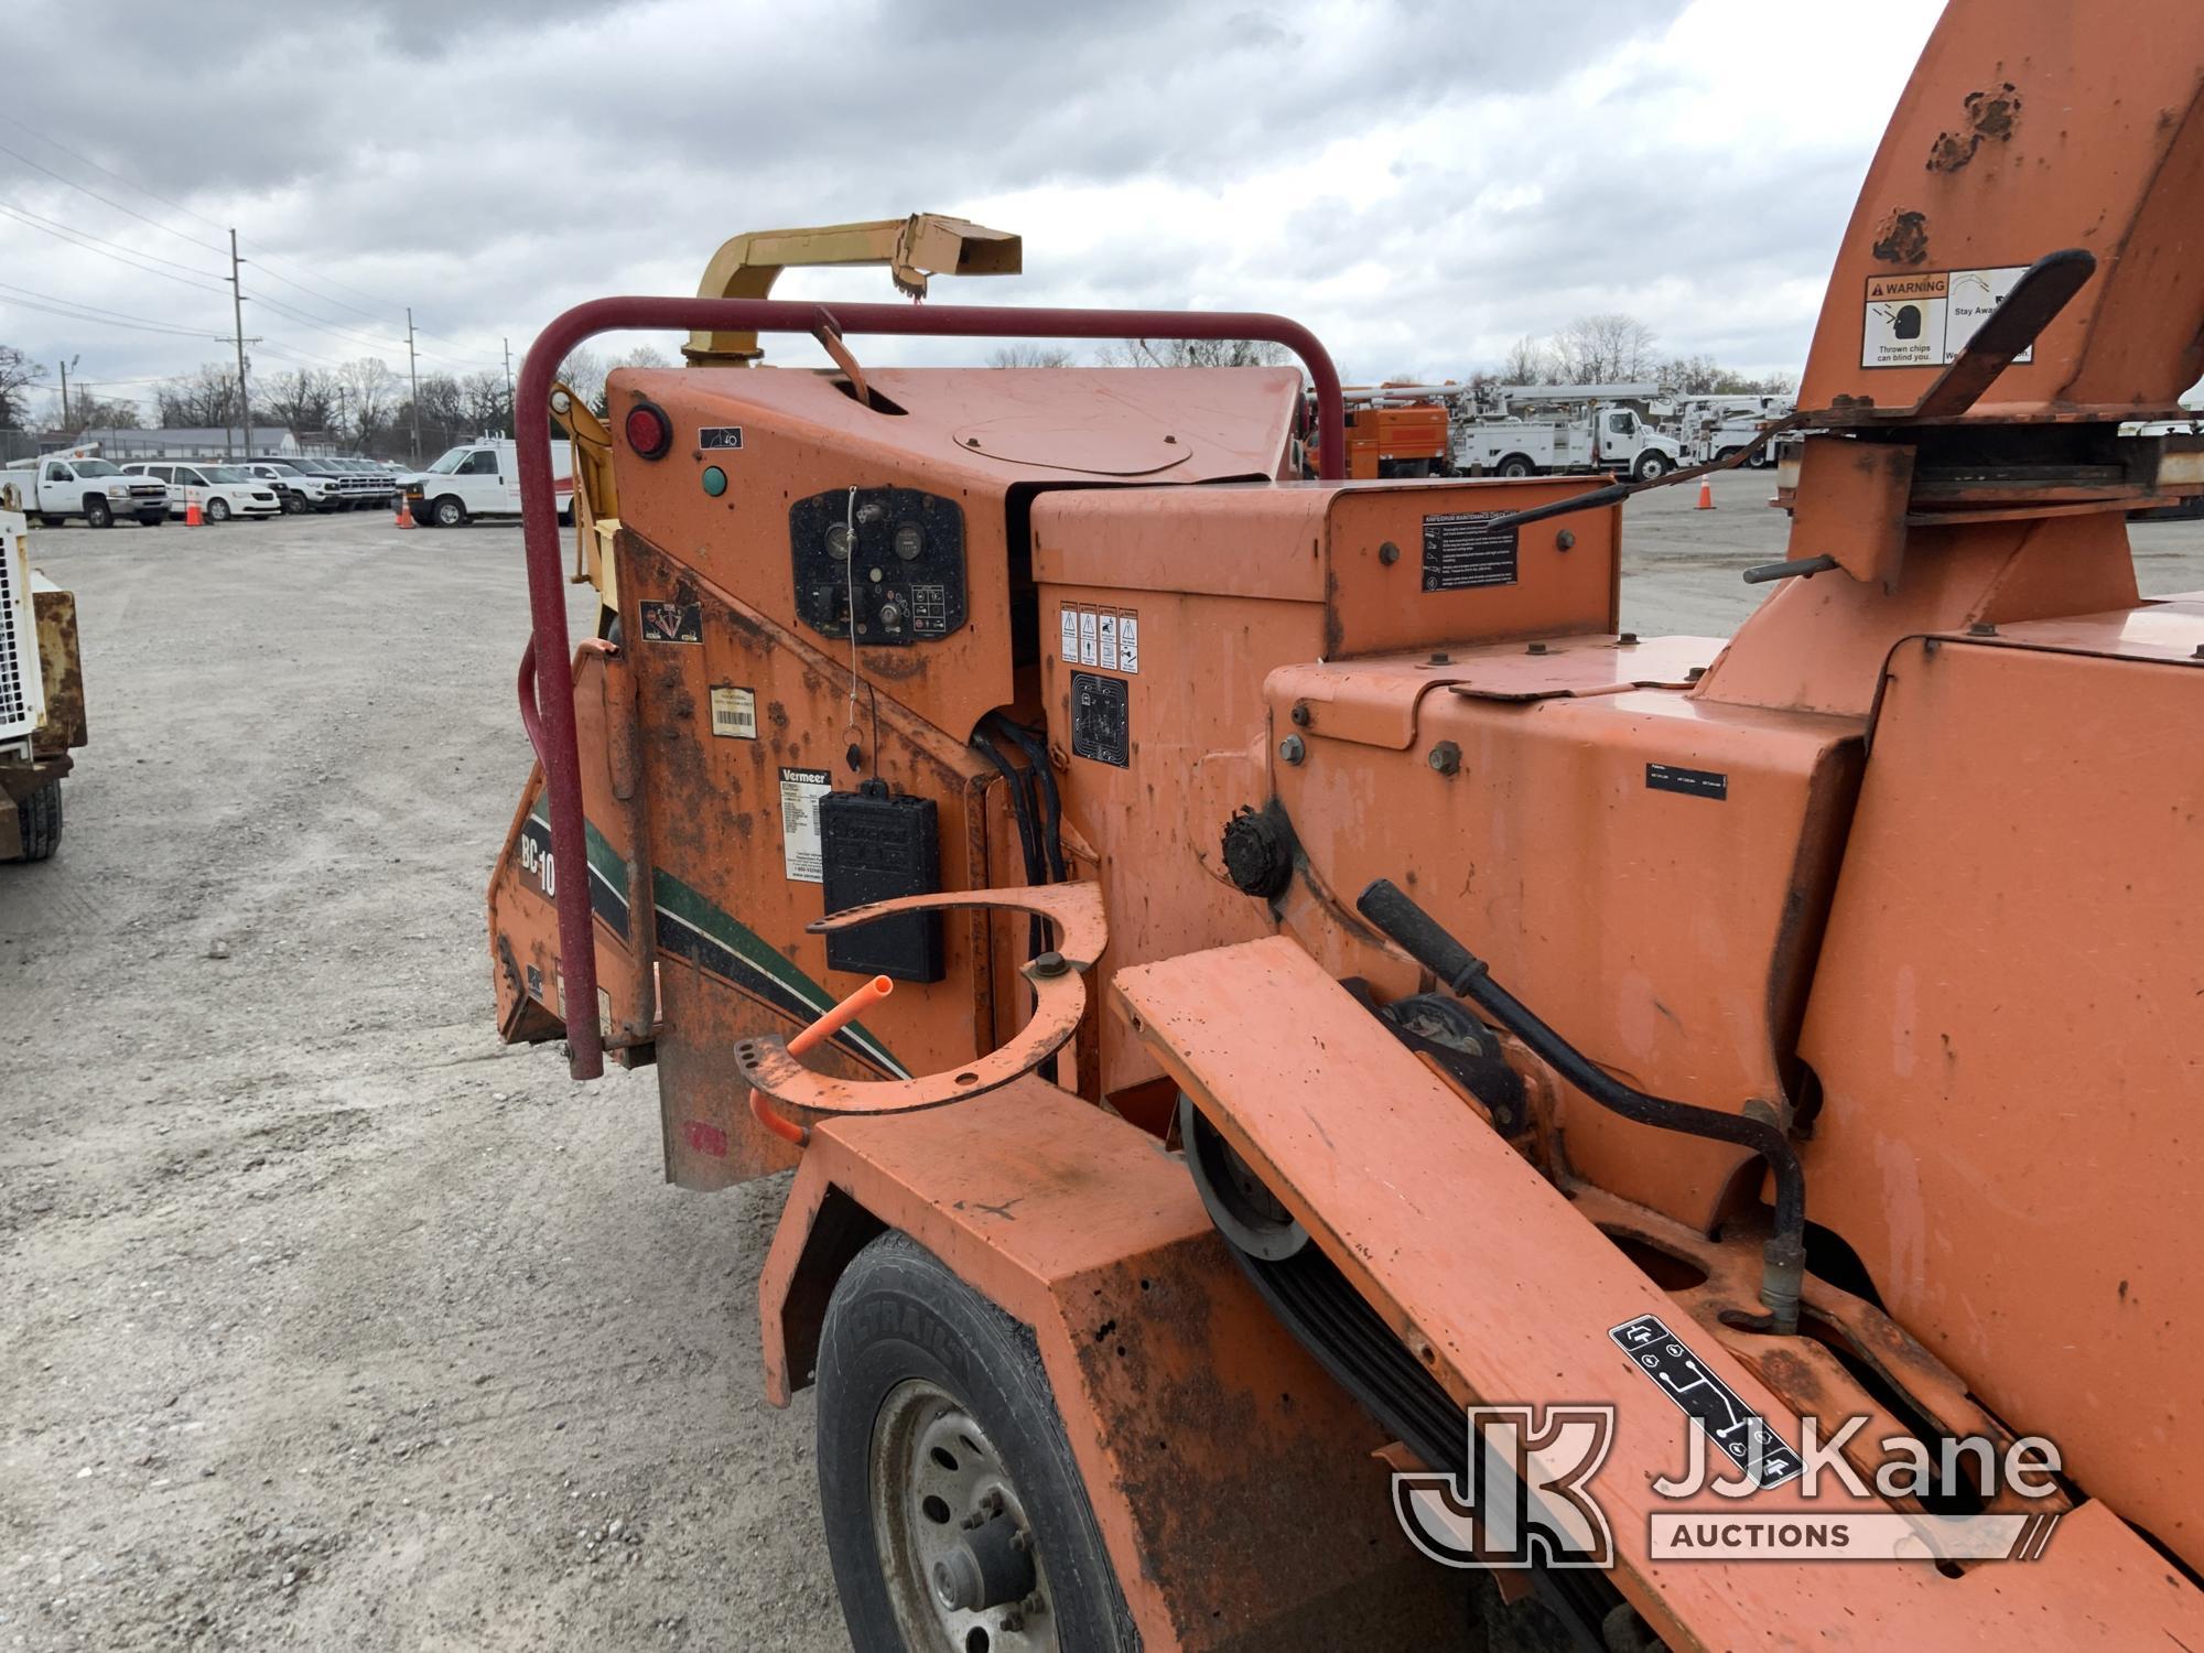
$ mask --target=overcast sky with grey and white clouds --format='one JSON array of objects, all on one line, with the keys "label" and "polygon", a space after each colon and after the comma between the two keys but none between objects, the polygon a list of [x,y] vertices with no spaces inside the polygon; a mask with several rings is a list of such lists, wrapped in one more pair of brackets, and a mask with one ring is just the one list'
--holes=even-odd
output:
[{"label": "overcast sky with grey and white clouds", "polygon": [[[1023,278],[946,302],[1285,311],[1351,381],[1461,377],[1591,311],[1796,372],[1937,7],[7,11],[0,344],[134,397],[227,355],[231,225],[256,372],[403,370],[408,304],[423,372],[465,372],[577,300],[694,291],[738,229],[906,212],[1025,236]],[[890,291],[842,271],[780,295]]]}]

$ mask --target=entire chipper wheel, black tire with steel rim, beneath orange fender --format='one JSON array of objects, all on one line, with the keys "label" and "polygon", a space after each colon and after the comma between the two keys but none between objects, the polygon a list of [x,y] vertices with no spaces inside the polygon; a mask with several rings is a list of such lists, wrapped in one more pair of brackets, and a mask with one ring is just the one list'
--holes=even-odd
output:
[{"label": "entire chipper wheel, black tire with steel rim, beneath orange fender", "polygon": [[1137,1644],[1034,1336],[908,1234],[866,1245],[827,1305],[818,1461],[855,1646]]}]

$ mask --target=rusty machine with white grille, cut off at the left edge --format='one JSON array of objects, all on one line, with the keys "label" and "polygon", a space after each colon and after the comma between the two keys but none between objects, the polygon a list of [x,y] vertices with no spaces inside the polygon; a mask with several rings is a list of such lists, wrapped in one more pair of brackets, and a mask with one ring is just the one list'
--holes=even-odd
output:
[{"label": "rusty machine with white grille, cut off at the left edge", "polygon": [[13,489],[0,489],[0,862],[62,844],[62,776],[86,743],[77,602],[31,566]]}]

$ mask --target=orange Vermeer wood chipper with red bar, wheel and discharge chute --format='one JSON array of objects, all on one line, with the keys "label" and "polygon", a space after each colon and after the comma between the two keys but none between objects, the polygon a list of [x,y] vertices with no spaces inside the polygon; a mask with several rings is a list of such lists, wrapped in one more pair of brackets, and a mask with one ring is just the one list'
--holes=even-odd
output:
[{"label": "orange Vermeer wood chipper with red bar, wheel and discharge chute", "polygon": [[[547,331],[500,1025],[793,1168],[860,1646],[2204,1649],[2204,595],[2125,527],[2204,452],[2122,434],[2200,209],[2204,11],[1957,0],[1730,639],[1618,630],[1631,485],[1342,480],[1278,317]],[[575,650],[606,328],[838,368],[613,375]],[[853,344],[919,333],[1278,342],[1331,476],[1289,368]]]}]

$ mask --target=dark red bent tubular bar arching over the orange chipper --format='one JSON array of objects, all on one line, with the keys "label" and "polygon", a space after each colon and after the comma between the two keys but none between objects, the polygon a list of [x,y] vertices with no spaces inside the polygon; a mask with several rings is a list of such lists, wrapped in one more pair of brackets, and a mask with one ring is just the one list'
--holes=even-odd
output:
[{"label": "dark red bent tubular bar arching over the orange chipper", "polygon": [[[1261,339],[1300,357],[1316,386],[1318,463],[1327,480],[1347,476],[1347,414],[1340,372],[1316,335],[1283,315],[1256,311],[1020,311],[979,304],[802,304],[763,298],[597,298],[551,322],[520,366],[514,428],[520,445],[520,527],[529,560],[529,652],[520,663],[520,721],[544,767],[551,796],[551,853],[573,868],[588,866],[582,842],[582,754],[573,732],[571,666],[558,666],[551,699],[536,690],[536,666],[571,661],[566,637],[566,562],[551,496],[551,379],[584,339],[615,328],[659,333],[873,333],[957,339]],[[604,1073],[597,1031],[597,943],[591,932],[588,879],[558,882],[558,946],[564,976],[569,1065],[577,1080]],[[577,1005],[580,1016],[569,1016]]]}]

